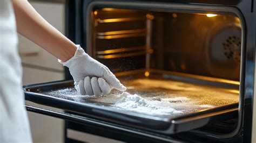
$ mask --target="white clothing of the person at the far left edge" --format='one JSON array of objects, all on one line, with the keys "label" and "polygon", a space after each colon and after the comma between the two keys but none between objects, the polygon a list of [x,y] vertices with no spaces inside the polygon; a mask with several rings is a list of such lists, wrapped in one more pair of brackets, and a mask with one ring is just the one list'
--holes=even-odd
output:
[{"label": "white clothing of the person at the far left edge", "polygon": [[14,10],[0,0],[0,142],[32,142],[22,91]]}]

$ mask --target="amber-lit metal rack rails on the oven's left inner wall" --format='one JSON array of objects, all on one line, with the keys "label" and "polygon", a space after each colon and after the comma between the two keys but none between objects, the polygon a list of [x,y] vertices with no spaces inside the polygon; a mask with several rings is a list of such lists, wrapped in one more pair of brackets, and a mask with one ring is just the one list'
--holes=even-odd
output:
[{"label": "amber-lit metal rack rails on the oven's left inner wall", "polygon": [[[97,17],[97,16],[95,16]],[[123,23],[123,22],[134,22],[134,21],[144,21],[145,28],[131,28],[123,29],[117,31],[97,31],[97,27],[100,24],[106,23]],[[149,68],[150,54],[153,53],[151,48],[151,31],[152,31],[152,20],[153,16],[146,14],[143,17],[125,17],[125,18],[95,18],[95,23],[93,25],[93,53],[95,58],[98,59],[115,59],[115,58],[127,58],[132,56],[146,55],[146,65]],[[119,48],[106,49],[103,51],[98,51],[98,40],[112,40],[112,39],[122,39],[130,40],[130,38],[145,37],[145,45],[137,45],[132,47],[127,47],[126,45],[121,45]],[[97,45],[97,46],[96,46]],[[125,48],[124,48],[125,47]]]}]

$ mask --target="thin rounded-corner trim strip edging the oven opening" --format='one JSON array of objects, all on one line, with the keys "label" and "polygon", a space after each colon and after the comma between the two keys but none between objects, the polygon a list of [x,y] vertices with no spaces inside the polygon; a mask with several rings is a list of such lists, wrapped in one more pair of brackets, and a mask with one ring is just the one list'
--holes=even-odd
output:
[{"label": "thin rounded-corner trim strip edging the oven opening", "polygon": [[218,138],[231,138],[237,135],[240,131],[241,128],[241,123],[242,123],[242,114],[243,114],[243,106],[244,105],[244,73],[245,73],[245,32],[246,32],[246,24],[245,24],[245,19],[242,16],[242,13],[235,7],[231,6],[217,6],[217,5],[197,5],[197,4],[174,4],[174,3],[159,3],[159,2],[154,2],[154,3],[145,3],[145,2],[116,2],[116,1],[93,1],[89,4],[88,9],[86,11],[87,13],[87,47],[91,47],[91,11],[93,6],[95,5],[102,5],[106,7],[113,7],[113,6],[130,6],[130,8],[137,8],[137,9],[152,9],[152,10],[158,10],[158,11],[168,11],[168,12],[190,12],[190,13],[228,13],[229,15],[235,15],[240,19],[241,26],[242,26],[242,38],[241,38],[241,67],[240,67],[240,86],[239,86],[239,112],[238,112],[238,125],[237,128],[228,134],[214,134],[210,132],[201,132],[198,131],[199,133],[208,135],[208,136],[213,136],[213,137],[218,137]]}]

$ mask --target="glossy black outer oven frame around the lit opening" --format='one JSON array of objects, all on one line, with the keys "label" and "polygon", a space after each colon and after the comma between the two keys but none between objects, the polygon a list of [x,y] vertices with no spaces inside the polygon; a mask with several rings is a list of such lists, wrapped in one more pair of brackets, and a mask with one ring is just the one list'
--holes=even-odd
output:
[{"label": "glossy black outer oven frame around the lit opening", "polygon": [[[131,4],[130,6],[129,3]],[[251,141],[252,131],[252,99],[254,86],[254,40],[255,40],[255,10],[253,0],[241,1],[67,1],[66,9],[66,35],[77,44],[83,47],[90,47],[90,11],[93,5],[110,6],[114,8],[140,8],[151,10],[167,10],[178,6],[188,12],[211,12],[211,13],[235,13],[243,27],[242,40],[242,64],[240,81],[240,103],[239,103],[239,123],[237,130],[230,135],[218,135],[212,133],[198,132],[205,137],[214,138],[235,138],[240,136],[243,141]],[[149,7],[147,7],[148,5]],[[115,7],[116,6],[116,7]],[[128,6],[128,7],[127,7]],[[173,7],[174,6],[174,7]],[[164,8],[164,9],[163,9]],[[176,9],[177,10],[177,9]],[[180,9],[179,9],[180,10]],[[220,12],[222,11],[222,12]],[[176,11],[177,12],[177,11]],[[86,15],[84,13],[87,13]],[[87,51],[90,53],[90,51]],[[66,70],[66,78],[70,78]]]}]

